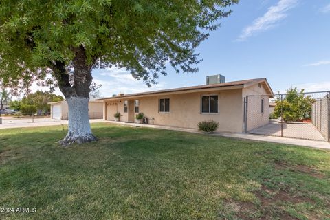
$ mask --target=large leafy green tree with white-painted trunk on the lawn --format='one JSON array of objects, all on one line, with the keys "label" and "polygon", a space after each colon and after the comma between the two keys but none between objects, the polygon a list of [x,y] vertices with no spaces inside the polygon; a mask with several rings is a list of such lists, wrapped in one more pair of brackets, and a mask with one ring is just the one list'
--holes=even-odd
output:
[{"label": "large leafy green tree with white-painted trunk on the lawn", "polygon": [[88,120],[94,68],[124,67],[147,85],[196,72],[195,48],[239,0],[1,0],[0,80],[27,87],[54,77],[69,104],[62,144],[96,140]]}]

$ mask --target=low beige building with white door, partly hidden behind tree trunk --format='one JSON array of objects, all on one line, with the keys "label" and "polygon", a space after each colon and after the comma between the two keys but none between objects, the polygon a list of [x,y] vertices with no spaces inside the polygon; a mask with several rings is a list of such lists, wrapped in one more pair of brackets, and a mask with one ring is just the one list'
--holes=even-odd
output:
[{"label": "low beige building with white door, partly hidden behind tree trunk", "polygon": [[[49,102],[51,118],[67,120],[69,107],[67,101]],[[103,118],[103,102],[98,100],[89,100],[88,103],[89,118],[98,119]]]}]

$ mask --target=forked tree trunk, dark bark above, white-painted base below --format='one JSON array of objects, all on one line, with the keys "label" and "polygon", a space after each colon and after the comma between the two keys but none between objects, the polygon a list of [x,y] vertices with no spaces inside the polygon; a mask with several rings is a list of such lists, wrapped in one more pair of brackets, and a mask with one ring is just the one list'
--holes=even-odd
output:
[{"label": "forked tree trunk, dark bark above, white-painted base below", "polygon": [[67,135],[59,143],[63,146],[70,144],[83,144],[98,140],[91,133],[89,124],[88,102],[91,85],[91,65],[87,65],[87,58],[83,46],[74,48],[75,57],[72,61],[74,67],[74,83],[71,85],[69,75],[63,61],[53,65],[54,75],[58,80],[58,87],[67,100],[69,107],[69,126]]}]

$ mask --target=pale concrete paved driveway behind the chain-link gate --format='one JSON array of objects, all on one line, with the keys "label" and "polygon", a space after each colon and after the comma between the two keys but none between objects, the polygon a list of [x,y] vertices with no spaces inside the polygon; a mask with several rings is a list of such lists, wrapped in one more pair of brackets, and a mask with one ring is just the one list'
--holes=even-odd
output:
[{"label": "pale concrete paved driveway behind the chain-link gate", "polygon": [[[270,120],[270,124],[256,128],[249,131],[249,133],[281,137],[281,122],[278,122],[278,120]],[[303,122],[283,123],[283,137],[325,141],[325,137],[321,135],[314,124]]]}]

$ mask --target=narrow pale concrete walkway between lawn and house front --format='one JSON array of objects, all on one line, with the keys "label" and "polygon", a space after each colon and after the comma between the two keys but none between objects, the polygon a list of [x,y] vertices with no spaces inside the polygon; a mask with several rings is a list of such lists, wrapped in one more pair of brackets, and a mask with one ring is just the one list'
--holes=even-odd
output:
[{"label": "narrow pale concrete walkway between lawn and house front", "polygon": [[[126,122],[113,122],[113,121],[106,121],[111,124],[121,124],[126,126],[135,126],[135,127],[148,127],[153,129],[166,129],[171,131],[184,131],[189,133],[200,133],[203,134],[201,131],[197,129],[184,129],[179,127],[173,126],[160,126],[160,125],[152,125],[152,124],[135,124],[135,123],[126,123]],[[298,146],[308,146],[311,148],[322,148],[330,150],[330,143],[324,141],[314,141],[314,140],[302,140],[296,138],[287,138],[287,137],[273,137],[273,136],[265,136],[265,135],[253,135],[248,133],[212,133],[213,136],[221,136],[221,137],[232,137],[232,138],[239,138],[245,140],[254,140],[254,141],[261,141],[261,142],[274,142],[278,144],[291,144],[291,145],[298,145]]]}]

